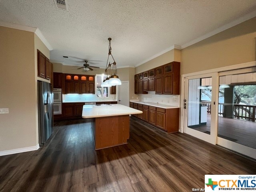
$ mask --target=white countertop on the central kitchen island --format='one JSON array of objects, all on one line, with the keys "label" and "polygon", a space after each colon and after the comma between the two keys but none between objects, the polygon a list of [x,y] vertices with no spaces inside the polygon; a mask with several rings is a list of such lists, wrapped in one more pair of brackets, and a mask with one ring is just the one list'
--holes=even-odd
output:
[{"label": "white countertop on the central kitchen island", "polygon": [[142,111],[121,105],[121,104],[111,104],[111,105],[84,105],[82,118],[97,118],[97,117],[107,117],[107,116],[118,116],[118,115],[130,115],[139,114]]}]

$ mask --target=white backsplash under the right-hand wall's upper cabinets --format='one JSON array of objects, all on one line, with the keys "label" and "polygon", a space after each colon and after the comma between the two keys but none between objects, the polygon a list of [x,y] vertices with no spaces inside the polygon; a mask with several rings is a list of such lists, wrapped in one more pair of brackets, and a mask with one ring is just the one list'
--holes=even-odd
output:
[{"label": "white backsplash under the right-hand wall's upper cabinets", "polygon": [[158,102],[161,104],[180,107],[180,95],[162,95],[155,94],[154,91],[148,91],[148,94],[140,94],[139,100],[147,102]]}]

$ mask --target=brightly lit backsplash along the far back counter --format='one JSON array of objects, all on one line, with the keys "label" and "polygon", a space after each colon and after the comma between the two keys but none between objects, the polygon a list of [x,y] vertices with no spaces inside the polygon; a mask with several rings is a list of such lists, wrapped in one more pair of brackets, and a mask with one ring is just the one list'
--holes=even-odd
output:
[{"label": "brightly lit backsplash along the far back counter", "polygon": [[98,98],[96,94],[62,94],[62,101],[63,102],[73,102],[73,101],[81,101],[81,102],[90,102],[90,101],[109,101],[115,100],[116,95],[109,95],[107,98]]}]

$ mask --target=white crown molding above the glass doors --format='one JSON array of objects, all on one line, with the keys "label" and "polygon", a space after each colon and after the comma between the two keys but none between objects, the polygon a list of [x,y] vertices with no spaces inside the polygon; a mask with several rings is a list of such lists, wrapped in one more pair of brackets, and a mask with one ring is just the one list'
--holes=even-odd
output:
[{"label": "white crown molding above the glass doors", "polygon": [[244,21],[247,21],[247,20],[249,20],[251,18],[254,18],[255,16],[256,16],[256,11],[250,12],[249,14],[246,14],[245,16],[242,16],[242,17],[240,17],[240,18],[238,18],[238,19],[236,19],[236,20],[234,20],[234,21],[232,21],[232,22],[230,22],[230,23],[228,23],[228,24],[226,24],[224,26],[221,26],[220,28],[218,28],[216,30],[213,30],[213,31],[211,31],[211,32],[209,32],[209,33],[207,33],[207,34],[205,34],[203,36],[200,36],[200,37],[198,37],[198,38],[196,38],[196,39],[194,39],[194,40],[192,40],[192,41],[190,41],[188,43],[183,44],[181,46],[181,49],[184,49],[184,48],[186,48],[186,47],[188,47],[190,45],[193,45],[193,44],[195,44],[197,42],[200,42],[200,41],[202,41],[202,40],[204,40],[204,39],[206,39],[208,37],[211,37],[211,36],[213,36],[213,35],[215,35],[217,33],[220,33],[220,32],[222,32],[222,31],[224,31],[224,30],[226,30],[228,28],[236,26],[236,25],[238,25],[238,24],[240,24],[240,23],[242,23]]}]

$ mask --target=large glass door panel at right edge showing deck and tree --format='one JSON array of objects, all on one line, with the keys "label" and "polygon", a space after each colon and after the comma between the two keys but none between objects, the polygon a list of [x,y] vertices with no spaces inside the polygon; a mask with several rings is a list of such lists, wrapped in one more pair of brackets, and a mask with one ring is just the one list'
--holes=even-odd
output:
[{"label": "large glass door panel at right edge showing deck and tree", "polygon": [[217,144],[256,159],[256,67],[219,73]]}]

